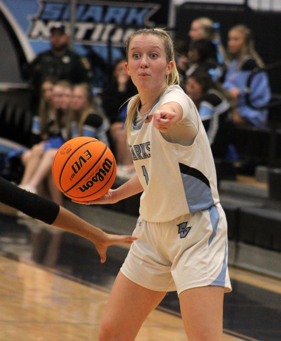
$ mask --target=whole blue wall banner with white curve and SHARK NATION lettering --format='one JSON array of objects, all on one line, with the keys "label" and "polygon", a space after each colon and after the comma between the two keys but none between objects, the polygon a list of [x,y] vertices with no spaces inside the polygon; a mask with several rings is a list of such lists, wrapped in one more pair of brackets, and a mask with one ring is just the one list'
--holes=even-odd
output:
[{"label": "whole blue wall banner with white curve and SHARK NATION lettering", "polygon": [[[114,62],[124,55],[123,42],[136,29],[167,26],[168,8],[169,0],[76,0],[74,49],[86,57],[97,54],[105,62],[110,53]],[[13,30],[26,60],[49,49],[55,23],[70,32],[70,17],[69,0],[0,0],[1,25]]]}]

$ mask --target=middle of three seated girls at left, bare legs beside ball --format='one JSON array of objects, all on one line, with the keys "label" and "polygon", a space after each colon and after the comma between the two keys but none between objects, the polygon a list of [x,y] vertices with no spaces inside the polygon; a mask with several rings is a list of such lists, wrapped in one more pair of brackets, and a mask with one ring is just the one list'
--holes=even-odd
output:
[{"label": "middle of three seated girls at left, bare legs beside ball", "polygon": [[65,142],[63,135],[70,117],[72,85],[68,81],[59,81],[53,88],[52,97],[55,115],[48,128],[48,138],[22,155],[25,171],[19,186],[36,193],[43,180],[47,180],[51,199],[62,205],[62,195],[54,183],[51,165],[58,148]]}]

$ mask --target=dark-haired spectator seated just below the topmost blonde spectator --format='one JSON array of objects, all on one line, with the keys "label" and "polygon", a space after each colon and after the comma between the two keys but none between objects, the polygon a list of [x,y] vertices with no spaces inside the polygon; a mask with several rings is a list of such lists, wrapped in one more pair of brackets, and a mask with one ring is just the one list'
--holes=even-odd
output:
[{"label": "dark-haired spectator seated just below the topmost blonde spectator", "polygon": [[217,48],[209,39],[199,39],[191,42],[188,51],[188,62],[187,77],[196,70],[202,70],[207,71],[214,81],[218,81],[224,74],[224,65],[219,64],[217,59]]}]

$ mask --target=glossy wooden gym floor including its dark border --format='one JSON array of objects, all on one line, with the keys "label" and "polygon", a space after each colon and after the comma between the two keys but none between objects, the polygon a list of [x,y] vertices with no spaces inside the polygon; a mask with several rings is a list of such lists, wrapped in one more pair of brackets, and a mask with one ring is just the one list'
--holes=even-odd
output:
[{"label": "glossy wooden gym floor including its dark border", "polygon": [[[7,233],[21,228],[17,219],[0,214],[0,341],[98,340],[120,263],[109,257],[101,265],[97,255],[82,257],[72,247],[60,250],[53,266],[38,264],[29,235]],[[223,341],[281,340],[281,281],[229,270],[233,292],[225,295]],[[167,340],[187,340],[176,293],[164,298],[136,338]]]}]

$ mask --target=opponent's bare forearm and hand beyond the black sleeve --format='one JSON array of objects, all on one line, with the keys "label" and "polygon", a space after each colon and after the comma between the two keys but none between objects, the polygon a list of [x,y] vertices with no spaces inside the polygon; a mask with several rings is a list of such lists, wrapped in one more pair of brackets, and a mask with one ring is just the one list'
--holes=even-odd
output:
[{"label": "opponent's bare forearm and hand beyond the black sleeve", "polygon": [[79,218],[72,212],[60,206],[59,214],[55,219],[53,226],[60,227],[66,231],[78,234],[89,239],[95,244],[101,257],[101,263],[106,260],[106,250],[110,245],[127,243],[131,244],[138,237],[112,235],[102,231],[83,219]]}]

